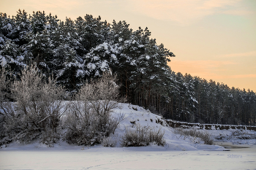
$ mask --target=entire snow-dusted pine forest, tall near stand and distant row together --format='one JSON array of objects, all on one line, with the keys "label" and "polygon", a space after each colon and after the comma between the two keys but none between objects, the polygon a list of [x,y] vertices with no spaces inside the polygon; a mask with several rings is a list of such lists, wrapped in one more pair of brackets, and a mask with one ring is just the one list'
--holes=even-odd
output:
[{"label": "entire snow-dusted pine forest, tall near stand and distant row together", "polygon": [[112,72],[127,102],[167,119],[255,125],[252,90],[173,72],[167,66],[170,57],[175,55],[157,45],[148,28],[133,31],[125,21],[108,23],[92,15],[62,21],[24,10],[12,17],[1,13],[0,69],[8,70],[9,79],[37,63],[39,72],[53,74],[67,92],[76,93],[84,82]]}]

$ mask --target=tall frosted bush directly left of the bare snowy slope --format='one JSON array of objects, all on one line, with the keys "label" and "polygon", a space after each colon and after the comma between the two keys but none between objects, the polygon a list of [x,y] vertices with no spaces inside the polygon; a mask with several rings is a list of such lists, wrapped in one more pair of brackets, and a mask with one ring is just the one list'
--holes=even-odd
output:
[{"label": "tall frosted bush directly left of the bare snowy slope", "polygon": [[116,78],[103,74],[99,80],[86,82],[69,105],[69,114],[64,119],[68,143],[94,145],[114,134],[124,115],[112,117],[118,108],[118,85]]}]

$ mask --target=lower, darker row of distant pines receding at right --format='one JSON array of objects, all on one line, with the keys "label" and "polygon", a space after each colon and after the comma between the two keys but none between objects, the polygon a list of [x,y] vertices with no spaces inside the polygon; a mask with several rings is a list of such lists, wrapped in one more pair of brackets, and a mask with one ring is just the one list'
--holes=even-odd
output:
[{"label": "lower, darker row of distant pines receding at right", "polygon": [[255,125],[256,95],[251,90],[172,72],[165,117],[190,123]]}]

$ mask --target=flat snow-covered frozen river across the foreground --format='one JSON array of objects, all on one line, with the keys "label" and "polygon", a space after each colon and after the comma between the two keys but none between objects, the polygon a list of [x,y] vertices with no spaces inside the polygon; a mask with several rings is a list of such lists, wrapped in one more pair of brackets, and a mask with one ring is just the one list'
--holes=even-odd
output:
[{"label": "flat snow-covered frozen river across the foreground", "polygon": [[146,151],[135,147],[0,150],[0,169],[256,169],[256,146],[238,147],[243,148],[232,147],[230,151]]}]

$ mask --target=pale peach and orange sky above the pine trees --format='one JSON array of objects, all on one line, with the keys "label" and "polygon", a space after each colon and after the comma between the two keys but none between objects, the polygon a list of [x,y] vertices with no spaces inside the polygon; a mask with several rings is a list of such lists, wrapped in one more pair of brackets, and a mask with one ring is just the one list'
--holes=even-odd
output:
[{"label": "pale peach and orange sky above the pine trees", "polygon": [[86,14],[146,28],[176,57],[173,72],[256,92],[255,0],[0,0],[0,12],[45,11],[60,20]]}]

